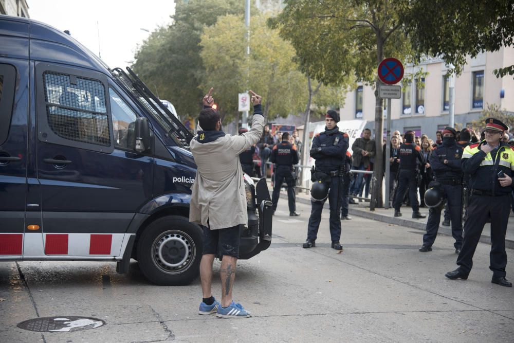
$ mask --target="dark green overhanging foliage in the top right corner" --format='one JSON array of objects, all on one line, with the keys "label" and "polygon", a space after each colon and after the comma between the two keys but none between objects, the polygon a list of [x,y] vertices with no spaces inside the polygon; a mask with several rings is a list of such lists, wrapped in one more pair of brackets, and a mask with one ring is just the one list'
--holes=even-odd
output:
[{"label": "dark green overhanging foliage in the top right corner", "polygon": [[[466,56],[497,51],[514,43],[512,0],[413,0],[401,13],[413,47],[440,56],[462,73]],[[514,75],[514,66],[495,70],[497,77]]]}]

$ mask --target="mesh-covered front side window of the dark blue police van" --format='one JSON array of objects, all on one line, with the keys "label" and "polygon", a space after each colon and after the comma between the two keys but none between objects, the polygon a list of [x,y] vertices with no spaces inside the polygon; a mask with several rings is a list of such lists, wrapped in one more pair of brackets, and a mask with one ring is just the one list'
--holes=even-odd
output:
[{"label": "mesh-covered front side window of the dark blue police van", "polygon": [[46,71],[45,101],[48,125],[59,137],[111,145],[105,88],[102,82]]}]

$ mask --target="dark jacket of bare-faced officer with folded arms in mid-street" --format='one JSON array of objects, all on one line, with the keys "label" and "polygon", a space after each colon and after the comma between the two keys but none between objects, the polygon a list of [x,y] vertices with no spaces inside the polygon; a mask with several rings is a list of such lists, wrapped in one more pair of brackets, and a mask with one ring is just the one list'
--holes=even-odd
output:
[{"label": "dark jacket of bare-faced officer with folded arms in mid-street", "polygon": [[[313,139],[310,157],[316,159],[316,169],[322,172],[339,170],[348,150],[348,135],[339,131],[338,127],[325,130]],[[320,151],[317,151],[321,148]]]}]

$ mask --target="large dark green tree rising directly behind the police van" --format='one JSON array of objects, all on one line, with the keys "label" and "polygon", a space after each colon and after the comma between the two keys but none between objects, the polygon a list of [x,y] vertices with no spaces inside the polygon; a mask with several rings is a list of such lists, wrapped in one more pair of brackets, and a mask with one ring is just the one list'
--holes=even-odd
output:
[{"label": "large dark green tree rising directly behind the police van", "polygon": [[195,116],[205,94],[199,86],[205,77],[200,57],[204,27],[228,13],[244,13],[238,0],[190,0],[176,2],[173,23],[152,32],[136,53],[134,71],[162,99],[175,105],[181,118]]}]

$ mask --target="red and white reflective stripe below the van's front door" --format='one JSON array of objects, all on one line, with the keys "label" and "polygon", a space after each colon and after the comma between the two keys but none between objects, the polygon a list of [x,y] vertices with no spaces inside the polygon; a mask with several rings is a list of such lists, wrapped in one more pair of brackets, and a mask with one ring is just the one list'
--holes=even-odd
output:
[{"label": "red and white reflective stripe below the van's front door", "polygon": [[124,233],[44,233],[46,255],[119,256]]}]

